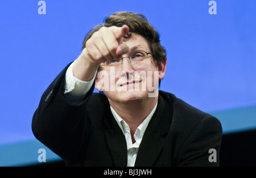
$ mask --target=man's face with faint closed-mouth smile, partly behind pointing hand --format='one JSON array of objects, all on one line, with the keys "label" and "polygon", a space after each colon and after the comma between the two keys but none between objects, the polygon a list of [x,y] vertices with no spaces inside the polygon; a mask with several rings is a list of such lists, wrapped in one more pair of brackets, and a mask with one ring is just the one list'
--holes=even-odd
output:
[{"label": "man's face with faint closed-mouth smile, partly behind pointing hand", "polygon": [[126,56],[137,50],[151,52],[150,48],[146,39],[137,34],[132,34],[130,38],[123,40],[123,43],[129,46],[129,52],[121,56],[125,57],[122,64],[119,68],[106,68],[102,63],[102,70],[97,74],[95,87],[102,90],[110,102],[124,104],[157,97],[158,81],[164,76],[166,64],[157,67],[152,55],[148,54],[140,65],[133,65]]}]

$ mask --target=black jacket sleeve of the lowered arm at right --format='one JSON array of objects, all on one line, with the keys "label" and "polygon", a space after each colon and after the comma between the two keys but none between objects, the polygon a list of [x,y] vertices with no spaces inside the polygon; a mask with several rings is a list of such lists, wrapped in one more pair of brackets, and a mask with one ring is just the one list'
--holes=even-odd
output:
[{"label": "black jacket sleeve of the lowered arm at right", "polygon": [[219,166],[221,138],[220,121],[212,115],[205,117],[183,143],[179,166]]}]

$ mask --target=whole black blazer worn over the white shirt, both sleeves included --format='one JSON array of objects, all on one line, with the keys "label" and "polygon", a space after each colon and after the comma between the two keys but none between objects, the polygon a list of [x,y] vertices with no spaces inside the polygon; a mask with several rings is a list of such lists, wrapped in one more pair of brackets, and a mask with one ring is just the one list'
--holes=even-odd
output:
[{"label": "whole black blazer worn over the white shirt, both sleeves included", "polygon": [[[67,165],[126,166],[125,136],[104,94],[75,103],[64,97],[65,72],[44,92],[32,119],[37,139]],[[217,118],[159,91],[158,106],[144,133],[135,166],[218,166],[222,136]],[[209,162],[210,148],[217,162]]]}]

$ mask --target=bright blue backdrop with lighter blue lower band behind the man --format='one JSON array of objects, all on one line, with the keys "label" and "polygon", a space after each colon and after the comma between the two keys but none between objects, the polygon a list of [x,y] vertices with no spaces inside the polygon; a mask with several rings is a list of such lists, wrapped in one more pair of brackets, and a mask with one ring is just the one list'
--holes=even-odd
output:
[{"label": "bright blue backdrop with lighter blue lower band behind the man", "polygon": [[[256,1],[0,2],[0,165],[38,162],[31,120],[44,90],[81,53],[90,28],[116,11],[144,14],[167,49],[160,89],[213,114],[224,133],[256,128]],[[47,150],[47,161],[58,157]]]}]

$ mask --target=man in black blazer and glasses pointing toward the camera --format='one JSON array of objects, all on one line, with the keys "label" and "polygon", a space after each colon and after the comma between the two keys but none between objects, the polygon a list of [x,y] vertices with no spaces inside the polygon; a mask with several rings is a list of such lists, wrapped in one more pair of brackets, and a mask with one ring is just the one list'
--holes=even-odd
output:
[{"label": "man in black blazer and glasses pointing toward the camera", "polygon": [[67,165],[218,166],[220,122],[158,91],[166,65],[143,15],[108,16],[44,92],[34,135]]}]

